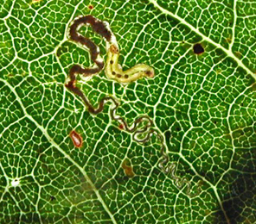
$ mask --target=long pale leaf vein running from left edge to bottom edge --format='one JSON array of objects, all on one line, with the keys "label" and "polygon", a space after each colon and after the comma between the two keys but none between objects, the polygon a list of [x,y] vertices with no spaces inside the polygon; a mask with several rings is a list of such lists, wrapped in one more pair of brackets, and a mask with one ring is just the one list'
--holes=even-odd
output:
[{"label": "long pale leaf vein running from left edge to bottom edge", "polygon": [[49,136],[49,134],[48,134],[48,132],[47,132],[46,129],[44,129],[40,124],[38,124],[37,121],[35,121],[35,119],[34,119],[31,115],[29,115],[29,114],[27,113],[27,110],[24,108],[20,97],[19,97],[19,96],[17,95],[17,93],[16,93],[16,90],[15,90],[6,80],[4,80],[3,78],[0,78],[0,81],[2,81],[4,84],[6,84],[6,85],[9,87],[9,89],[13,92],[13,94],[16,96],[16,100],[17,100],[17,102],[20,104],[20,106],[21,106],[21,108],[22,108],[22,110],[23,110],[24,115],[27,116],[30,121],[33,121],[33,122],[35,123],[35,126],[36,126],[37,128],[39,128],[39,129],[42,131],[42,134],[45,135],[45,137],[48,139],[48,141],[49,141],[59,152],[61,152],[61,154],[63,154],[63,155],[65,156],[65,158],[67,158],[73,165],[75,165],[75,166],[80,170],[80,172],[81,172],[81,173],[84,175],[84,177],[86,178],[86,181],[91,185],[91,187],[92,187],[94,193],[96,194],[96,196],[97,196],[99,202],[101,203],[102,207],[106,210],[106,213],[107,213],[107,214],[109,215],[109,217],[111,218],[112,223],[115,223],[115,224],[116,224],[117,221],[116,221],[115,218],[113,217],[113,215],[112,215],[112,213],[110,212],[110,210],[107,208],[106,203],[104,202],[103,198],[99,195],[99,191],[98,191],[98,190],[96,189],[96,187],[94,186],[94,184],[93,184],[92,180],[90,179],[90,177],[88,177],[86,171],[85,171],[82,167],[80,167],[80,165],[78,165],[78,164],[74,161],[74,159],[72,159],[72,158],[67,154],[67,152],[63,151],[63,150],[61,149],[61,147],[60,147],[56,142],[54,142],[54,140]]}]

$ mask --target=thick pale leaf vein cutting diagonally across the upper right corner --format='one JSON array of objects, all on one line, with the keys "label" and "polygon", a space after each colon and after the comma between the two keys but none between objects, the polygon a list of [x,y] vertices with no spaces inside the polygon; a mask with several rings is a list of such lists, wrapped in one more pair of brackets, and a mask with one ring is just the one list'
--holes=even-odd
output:
[{"label": "thick pale leaf vein cutting diagonally across the upper right corner", "polygon": [[[248,74],[250,74],[255,80],[256,80],[256,74],[254,74],[250,69],[248,69],[246,67],[246,65],[244,65],[240,59],[236,58],[234,56],[234,53],[230,50],[230,49],[226,49],[225,47],[222,47],[220,44],[214,42],[214,40],[211,40],[208,38],[208,36],[206,36],[205,34],[202,34],[201,31],[199,31],[197,28],[194,28],[192,25],[189,24],[189,22],[186,22],[184,19],[182,19],[180,16],[177,16],[175,14],[173,14],[172,12],[170,12],[167,9],[163,9],[163,7],[161,7],[156,0],[149,0],[150,3],[152,3],[155,8],[159,9],[160,11],[162,11],[163,14],[165,15],[169,15],[174,17],[176,20],[178,20],[179,22],[181,22],[183,25],[187,26],[188,28],[190,28],[192,31],[194,31],[196,34],[199,34],[202,36],[203,40],[208,41],[209,43],[211,43],[212,45],[214,45],[217,48],[220,48],[224,53],[227,54],[227,56],[231,57],[232,59],[234,59],[236,61],[236,63],[238,65],[240,65],[240,67],[242,67]],[[234,39],[234,37],[233,37]]]}]

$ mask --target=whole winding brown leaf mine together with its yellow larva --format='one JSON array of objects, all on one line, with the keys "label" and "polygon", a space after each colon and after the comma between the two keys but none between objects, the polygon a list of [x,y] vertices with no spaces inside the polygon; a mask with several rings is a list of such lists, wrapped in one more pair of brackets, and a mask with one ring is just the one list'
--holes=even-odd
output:
[{"label": "whole winding brown leaf mine together with its yellow larva", "polygon": [[[92,40],[78,34],[78,28],[80,28],[81,25],[91,25],[93,31],[97,34],[100,34],[106,40],[106,76],[108,78],[112,78],[122,84],[129,84],[133,81],[136,81],[138,78],[153,78],[154,76],[154,70],[149,65],[144,64],[135,65],[127,71],[123,72],[121,65],[118,65],[118,43],[114,34],[112,34],[108,23],[101,22],[99,21],[99,19],[96,19],[93,16],[82,16],[75,19],[73,24],[71,25],[69,30],[70,39],[74,42],[80,43],[83,46],[86,46],[89,49],[91,58],[93,59],[93,62],[96,66],[93,68],[82,68],[80,65],[73,65],[69,71],[69,81],[67,82],[67,84],[65,84],[65,86],[75,95],[80,96],[80,98],[86,104],[88,111],[93,115],[97,115],[102,112],[102,110],[105,108],[105,104],[107,102],[111,102],[112,108],[110,109],[110,113],[112,120],[117,121],[119,127],[122,127],[121,129],[125,130],[128,133],[132,133],[133,140],[139,143],[144,143],[150,140],[152,134],[156,134],[157,139],[160,141],[161,144],[162,155],[159,167],[165,174],[170,174],[177,188],[181,189],[184,184],[188,184],[187,194],[191,196],[189,193],[189,181],[185,177],[176,176],[176,164],[169,163],[170,159],[165,152],[163,136],[157,131],[156,128],[154,128],[154,122],[150,119],[148,115],[142,115],[138,117],[129,127],[123,117],[116,115],[116,110],[118,109],[119,103],[115,98],[113,98],[112,96],[106,96],[99,102],[98,108],[94,108],[93,105],[90,103],[89,99],[76,86],[76,77],[78,74],[81,74],[84,77],[89,77],[99,73],[104,68],[104,61],[99,56],[99,47],[95,45]],[[142,128],[140,127],[140,124],[142,124]]]}]

